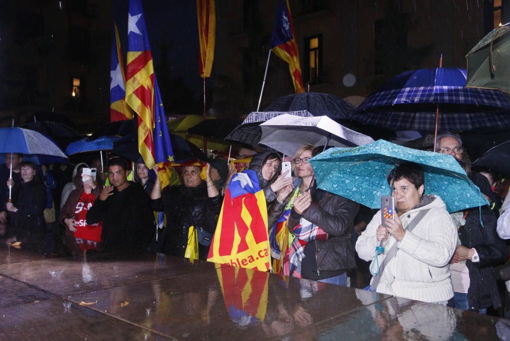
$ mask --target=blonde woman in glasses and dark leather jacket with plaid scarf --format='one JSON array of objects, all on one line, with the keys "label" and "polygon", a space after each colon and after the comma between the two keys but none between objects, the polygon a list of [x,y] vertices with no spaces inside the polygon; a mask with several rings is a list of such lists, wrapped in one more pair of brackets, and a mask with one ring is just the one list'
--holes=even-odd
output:
[{"label": "blonde woman in glasses and dark leather jacket with plaid scarf", "polygon": [[[297,181],[295,190],[291,191],[287,226],[295,238],[289,247],[284,272],[294,277],[346,285],[346,271],[356,267],[351,235],[360,205],[317,188],[310,159],[321,151],[321,147],[305,144],[293,158]],[[278,202],[284,194],[278,193]],[[282,205],[275,206],[274,211],[282,213]]]}]

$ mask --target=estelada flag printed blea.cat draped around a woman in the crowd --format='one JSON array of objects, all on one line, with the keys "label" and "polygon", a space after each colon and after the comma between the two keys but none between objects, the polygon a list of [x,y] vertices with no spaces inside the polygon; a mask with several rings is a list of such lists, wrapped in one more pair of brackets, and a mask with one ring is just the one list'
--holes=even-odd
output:
[{"label": "estelada flag printed blea.cat draped around a woman in the crowd", "polygon": [[245,170],[228,183],[207,260],[270,269],[266,198],[256,172]]}]

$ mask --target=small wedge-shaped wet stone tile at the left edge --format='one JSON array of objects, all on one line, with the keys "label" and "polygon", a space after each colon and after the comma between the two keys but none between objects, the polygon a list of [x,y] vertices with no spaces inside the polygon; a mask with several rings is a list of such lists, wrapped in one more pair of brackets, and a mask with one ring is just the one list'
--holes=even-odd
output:
[{"label": "small wedge-shaped wet stone tile at the left edge", "polygon": [[0,309],[56,298],[55,295],[20,281],[0,276]]}]

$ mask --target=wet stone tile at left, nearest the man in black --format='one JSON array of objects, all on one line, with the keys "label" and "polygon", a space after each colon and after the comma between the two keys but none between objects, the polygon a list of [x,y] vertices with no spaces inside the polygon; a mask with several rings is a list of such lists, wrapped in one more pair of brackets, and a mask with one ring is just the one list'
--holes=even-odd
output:
[{"label": "wet stone tile at left, nearest the man in black", "polygon": [[[90,260],[88,260],[90,258]],[[214,270],[215,264],[173,256],[99,254],[87,259],[53,258],[0,265],[0,274],[59,296],[104,290],[185,273]]]}]

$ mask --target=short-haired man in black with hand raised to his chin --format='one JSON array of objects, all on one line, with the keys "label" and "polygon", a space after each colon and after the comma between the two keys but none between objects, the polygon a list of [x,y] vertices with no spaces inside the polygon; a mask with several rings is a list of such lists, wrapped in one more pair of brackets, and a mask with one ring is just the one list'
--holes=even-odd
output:
[{"label": "short-haired man in black with hand raised to his chin", "polygon": [[108,164],[107,186],[87,213],[87,223],[103,222],[106,248],[144,252],[155,231],[150,198],[139,183],[127,181],[131,170],[121,158]]}]

